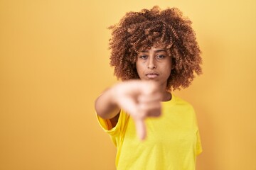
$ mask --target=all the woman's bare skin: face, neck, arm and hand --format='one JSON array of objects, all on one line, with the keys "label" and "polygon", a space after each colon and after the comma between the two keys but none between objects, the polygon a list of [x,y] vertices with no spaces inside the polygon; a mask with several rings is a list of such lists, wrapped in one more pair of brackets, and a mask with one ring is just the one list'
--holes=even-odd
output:
[{"label": "all the woman's bare skin: face, neck, arm and hand", "polygon": [[146,137],[144,119],[161,115],[161,101],[171,100],[166,91],[167,79],[171,74],[171,56],[164,46],[151,47],[139,52],[136,62],[141,80],[124,81],[105,90],[95,101],[97,114],[117,124],[120,109],[134,119],[137,135]]}]

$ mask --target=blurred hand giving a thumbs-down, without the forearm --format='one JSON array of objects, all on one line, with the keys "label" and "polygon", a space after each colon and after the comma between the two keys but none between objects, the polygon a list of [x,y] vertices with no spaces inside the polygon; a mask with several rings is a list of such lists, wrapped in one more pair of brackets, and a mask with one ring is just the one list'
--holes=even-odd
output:
[{"label": "blurred hand giving a thumbs-down, without the forearm", "polygon": [[115,102],[134,119],[137,135],[141,140],[146,137],[144,119],[161,115],[161,91],[153,81],[124,81],[115,85]]}]

